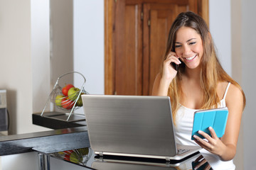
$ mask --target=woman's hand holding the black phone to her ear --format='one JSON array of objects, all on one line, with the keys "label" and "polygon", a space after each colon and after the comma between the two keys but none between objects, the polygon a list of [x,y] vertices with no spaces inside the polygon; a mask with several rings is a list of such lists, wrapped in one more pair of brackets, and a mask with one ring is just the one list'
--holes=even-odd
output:
[{"label": "woman's hand holding the black phone to her ear", "polygon": [[178,60],[178,57],[175,52],[169,52],[169,55],[167,55],[166,60],[164,60],[164,65],[163,65],[163,74],[162,74],[162,79],[171,81],[176,77],[177,71],[173,67],[172,63],[174,64],[181,64],[181,61]]}]

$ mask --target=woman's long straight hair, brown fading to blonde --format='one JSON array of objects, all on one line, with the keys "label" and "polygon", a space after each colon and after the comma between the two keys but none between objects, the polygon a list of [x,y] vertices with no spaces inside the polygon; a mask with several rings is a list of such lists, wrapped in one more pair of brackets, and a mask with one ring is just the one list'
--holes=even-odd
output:
[{"label": "woman's long straight hair, brown fading to blonde", "polygon": [[[201,16],[191,11],[180,13],[175,19],[169,31],[169,38],[166,45],[166,52],[164,55],[164,60],[166,60],[169,52],[175,52],[175,40],[176,32],[182,26],[193,28],[196,32],[201,35],[203,42],[203,57],[201,60],[201,78],[200,84],[203,89],[203,106],[201,109],[217,108],[220,98],[217,94],[217,85],[220,81],[228,81],[235,86],[238,86],[240,91],[242,91],[241,86],[233,80],[221,67],[218,57],[215,53],[215,47],[212,38],[210,37],[210,31],[206,22],[203,21]],[[184,74],[185,64],[181,63],[178,67],[178,72],[176,77],[169,86],[168,96],[171,98],[171,108],[174,118],[174,124],[176,124],[176,112],[179,107],[179,101],[183,98],[183,91],[181,89],[181,75]],[[243,108],[245,108],[245,94],[243,95]]]}]

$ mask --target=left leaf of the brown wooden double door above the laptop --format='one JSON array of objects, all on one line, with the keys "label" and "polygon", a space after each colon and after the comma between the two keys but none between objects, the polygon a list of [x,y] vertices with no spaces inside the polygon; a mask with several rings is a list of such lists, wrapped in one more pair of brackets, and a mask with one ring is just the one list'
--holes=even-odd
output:
[{"label": "left leaf of the brown wooden double door above the laptop", "polygon": [[125,5],[117,16],[115,94],[142,94],[142,27],[140,5]]}]

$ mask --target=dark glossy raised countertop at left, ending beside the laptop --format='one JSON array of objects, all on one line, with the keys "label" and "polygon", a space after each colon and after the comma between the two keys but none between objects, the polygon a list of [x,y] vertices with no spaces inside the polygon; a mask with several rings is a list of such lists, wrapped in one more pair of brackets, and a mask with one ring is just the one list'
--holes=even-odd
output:
[{"label": "dark glossy raised countertop at left, ending beside the laptop", "polygon": [[33,151],[48,154],[82,147],[90,147],[85,126],[0,137],[0,156]]}]

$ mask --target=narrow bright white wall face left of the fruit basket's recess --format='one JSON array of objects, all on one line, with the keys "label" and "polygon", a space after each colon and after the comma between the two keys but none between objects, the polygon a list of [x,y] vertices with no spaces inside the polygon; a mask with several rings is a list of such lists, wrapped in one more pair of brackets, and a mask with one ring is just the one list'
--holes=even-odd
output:
[{"label": "narrow bright white wall face left of the fruit basket's recess", "polygon": [[33,113],[41,113],[50,94],[49,16],[49,1],[31,1]]}]

